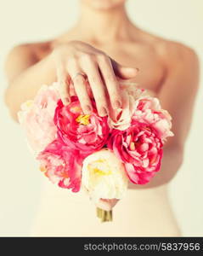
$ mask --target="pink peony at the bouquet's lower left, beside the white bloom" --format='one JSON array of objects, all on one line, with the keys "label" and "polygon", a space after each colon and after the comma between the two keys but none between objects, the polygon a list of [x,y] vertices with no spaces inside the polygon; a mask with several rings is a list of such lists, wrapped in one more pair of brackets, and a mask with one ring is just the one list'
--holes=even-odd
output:
[{"label": "pink peony at the bouquet's lower left, beside the white bloom", "polygon": [[40,169],[59,187],[77,192],[81,186],[82,159],[79,151],[68,148],[59,140],[48,144],[37,156]]}]

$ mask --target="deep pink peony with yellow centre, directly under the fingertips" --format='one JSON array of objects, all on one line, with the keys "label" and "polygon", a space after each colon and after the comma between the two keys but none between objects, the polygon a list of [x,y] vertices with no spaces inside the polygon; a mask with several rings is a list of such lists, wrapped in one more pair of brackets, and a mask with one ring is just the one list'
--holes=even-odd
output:
[{"label": "deep pink peony with yellow centre, directly under the fingertips", "polygon": [[55,110],[54,122],[59,138],[70,148],[80,150],[84,155],[103,148],[109,137],[107,117],[100,117],[93,102],[93,113],[82,113],[76,96],[71,97],[68,106],[59,100]]}]

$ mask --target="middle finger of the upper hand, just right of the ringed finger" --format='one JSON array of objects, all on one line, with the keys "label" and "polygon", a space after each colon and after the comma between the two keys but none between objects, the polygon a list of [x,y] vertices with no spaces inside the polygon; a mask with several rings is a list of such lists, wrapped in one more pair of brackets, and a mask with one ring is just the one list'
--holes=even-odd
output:
[{"label": "middle finger of the upper hand, just right of the ringed finger", "polygon": [[85,67],[85,73],[87,73],[87,78],[93,91],[93,97],[96,102],[97,110],[100,116],[106,116],[109,113],[106,94],[104,89],[104,84],[102,82],[99,69],[93,63],[89,61]]}]

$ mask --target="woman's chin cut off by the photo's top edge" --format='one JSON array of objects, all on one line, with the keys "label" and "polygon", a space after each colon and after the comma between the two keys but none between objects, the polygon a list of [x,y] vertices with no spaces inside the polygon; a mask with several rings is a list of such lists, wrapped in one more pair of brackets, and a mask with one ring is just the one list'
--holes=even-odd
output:
[{"label": "woman's chin cut off by the photo's top edge", "polygon": [[126,0],[82,0],[88,7],[101,11],[115,9],[125,2]]}]

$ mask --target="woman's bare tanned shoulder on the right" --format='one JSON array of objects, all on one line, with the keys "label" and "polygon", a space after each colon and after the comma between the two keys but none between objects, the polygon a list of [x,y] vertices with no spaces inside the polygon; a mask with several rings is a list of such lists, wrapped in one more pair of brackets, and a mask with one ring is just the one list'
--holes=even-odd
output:
[{"label": "woman's bare tanned shoulder on the right", "polygon": [[[200,80],[200,61],[195,49],[186,44],[144,33],[165,69],[165,81],[196,90]],[[180,85],[178,85],[180,86]]]}]

